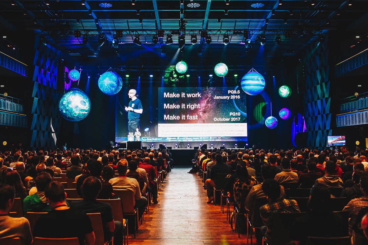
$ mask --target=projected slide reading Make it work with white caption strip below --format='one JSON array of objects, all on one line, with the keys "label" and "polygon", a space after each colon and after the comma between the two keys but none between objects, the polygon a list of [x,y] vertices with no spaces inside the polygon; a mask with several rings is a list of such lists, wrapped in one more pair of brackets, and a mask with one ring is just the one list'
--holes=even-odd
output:
[{"label": "projected slide reading Make it work with white caption strip below", "polygon": [[240,87],[159,88],[158,137],[166,141],[245,141],[245,95]]}]

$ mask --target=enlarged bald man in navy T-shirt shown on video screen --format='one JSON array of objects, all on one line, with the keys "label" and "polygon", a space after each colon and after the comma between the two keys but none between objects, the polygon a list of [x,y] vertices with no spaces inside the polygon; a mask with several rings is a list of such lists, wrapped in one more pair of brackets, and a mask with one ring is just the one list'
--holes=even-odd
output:
[{"label": "enlarged bald man in navy T-shirt shown on video screen", "polygon": [[142,102],[137,98],[137,91],[131,89],[128,92],[129,106],[125,107],[125,111],[128,112],[128,132],[135,133],[136,129],[140,129],[140,117],[143,112]]}]

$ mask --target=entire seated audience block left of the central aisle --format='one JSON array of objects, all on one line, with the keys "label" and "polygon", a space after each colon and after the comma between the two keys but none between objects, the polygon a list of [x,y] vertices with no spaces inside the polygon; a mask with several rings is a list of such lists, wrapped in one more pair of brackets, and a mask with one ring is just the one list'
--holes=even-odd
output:
[{"label": "entire seated audience block left of the central aisle", "polygon": [[[130,190],[138,220],[142,219],[150,199],[158,203],[156,169],[166,174],[172,163],[169,150],[160,149],[0,152],[0,244],[3,238],[31,244],[34,237],[78,238],[81,245],[95,244],[88,213],[100,213],[105,242],[114,237],[114,244],[123,244],[123,220],[114,220],[110,204],[103,199],[120,198],[114,192]],[[78,195],[72,198],[77,199],[68,199],[70,185]],[[43,213],[33,225],[12,213],[15,198],[21,201],[21,216]],[[129,232],[135,233],[138,220],[128,222],[133,230]]]}]

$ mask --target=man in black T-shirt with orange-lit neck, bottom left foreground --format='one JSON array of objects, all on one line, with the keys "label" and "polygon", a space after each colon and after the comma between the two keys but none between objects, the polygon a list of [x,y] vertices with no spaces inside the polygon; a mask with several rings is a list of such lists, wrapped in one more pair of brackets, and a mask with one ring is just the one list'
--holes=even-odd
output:
[{"label": "man in black T-shirt with orange-lit neck, bottom left foreground", "polygon": [[46,188],[45,195],[51,210],[36,221],[33,228],[35,237],[78,237],[80,245],[95,244],[91,220],[85,213],[68,207],[62,184],[57,181],[51,182]]}]

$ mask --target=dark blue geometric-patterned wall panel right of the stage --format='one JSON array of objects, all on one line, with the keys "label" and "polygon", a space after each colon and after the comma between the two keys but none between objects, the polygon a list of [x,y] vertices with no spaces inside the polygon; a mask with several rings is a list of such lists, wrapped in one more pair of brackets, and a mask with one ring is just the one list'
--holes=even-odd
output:
[{"label": "dark blue geometric-patterned wall panel right of the stage", "polygon": [[304,93],[304,118],[307,145],[325,147],[331,136],[330,66],[327,38],[318,46],[308,47],[305,53],[306,90]]}]

